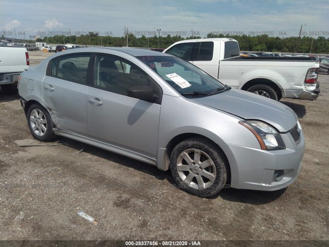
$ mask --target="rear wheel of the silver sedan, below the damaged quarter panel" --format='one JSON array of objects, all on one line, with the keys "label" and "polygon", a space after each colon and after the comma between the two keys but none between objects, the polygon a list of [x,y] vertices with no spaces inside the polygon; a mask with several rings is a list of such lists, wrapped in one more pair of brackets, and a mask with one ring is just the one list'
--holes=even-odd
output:
[{"label": "rear wheel of the silver sedan, below the damaged quarter panel", "polygon": [[40,104],[32,104],[27,112],[27,123],[32,136],[41,142],[48,142],[55,137],[53,122],[46,109]]}]

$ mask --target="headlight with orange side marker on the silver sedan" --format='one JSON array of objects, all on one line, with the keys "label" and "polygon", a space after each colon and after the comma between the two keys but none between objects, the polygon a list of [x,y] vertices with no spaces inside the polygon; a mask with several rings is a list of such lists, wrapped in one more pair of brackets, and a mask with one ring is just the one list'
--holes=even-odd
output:
[{"label": "headlight with orange side marker on the silver sedan", "polygon": [[283,140],[273,127],[260,121],[239,121],[254,134],[263,150],[280,150],[285,149]]}]

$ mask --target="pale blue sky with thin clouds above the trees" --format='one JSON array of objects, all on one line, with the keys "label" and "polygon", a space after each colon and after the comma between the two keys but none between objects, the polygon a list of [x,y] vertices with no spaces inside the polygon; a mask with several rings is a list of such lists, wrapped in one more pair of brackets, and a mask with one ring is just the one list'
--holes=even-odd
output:
[{"label": "pale blue sky with thin clouds above the trees", "polygon": [[[0,0],[0,37],[89,31],[140,38],[208,33],[329,38],[329,0]],[[160,32],[159,32],[160,31]],[[193,32],[192,32],[193,31]]]}]

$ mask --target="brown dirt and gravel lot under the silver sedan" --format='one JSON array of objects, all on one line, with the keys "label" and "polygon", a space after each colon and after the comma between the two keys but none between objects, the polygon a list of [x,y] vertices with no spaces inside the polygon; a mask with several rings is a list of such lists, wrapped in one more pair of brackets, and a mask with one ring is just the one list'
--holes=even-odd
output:
[{"label": "brown dirt and gravel lot under the silver sedan", "polygon": [[[32,64],[43,59],[33,53]],[[62,137],[39,143],[19,97],[0,91],[0,240],[327,240],[318,246],[327,245],[329,76],[319,81],[316,101],[281,101],[297,113],[305,133],[297,181],[276,192],[223,189],[211,199],[179,190],[169,171],[130,158]],[[81,218],[80,210],[100,223]]]}]

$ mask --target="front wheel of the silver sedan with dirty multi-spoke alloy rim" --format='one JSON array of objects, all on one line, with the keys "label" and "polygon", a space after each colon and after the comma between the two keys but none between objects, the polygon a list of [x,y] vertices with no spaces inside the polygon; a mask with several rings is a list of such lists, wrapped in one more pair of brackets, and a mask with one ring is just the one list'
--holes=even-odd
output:
[{"label": "front wheel of the silver sedan with dirty multi-spoke alloy rim", "polygon": [[203,138],[179,143],[170,155],[170,170],[179,188],[198,197],[211,197],[228,180],[224,155]]}]

